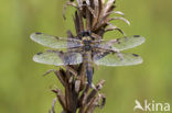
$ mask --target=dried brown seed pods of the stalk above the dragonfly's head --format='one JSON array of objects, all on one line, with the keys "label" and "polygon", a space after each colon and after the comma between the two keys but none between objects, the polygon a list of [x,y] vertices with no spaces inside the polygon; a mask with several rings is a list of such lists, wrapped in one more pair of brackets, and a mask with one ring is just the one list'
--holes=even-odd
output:
[{"label": "dried brown seed pods of the stalk above the dragonfly's head", "polygon": [[[122,18],[122,12],[114,11],[116,8],[115,0],[107,0],[107,2],[105,0],[76,0],[76,2],[67,1],[65,5],[77,9],[74,18],[76,34],[80,31],[90,31],[103,37],[104,33],[114,30],[123,34],[121,29],[110,24],[114,20],[121,20],[130,25],[130,22]],[[111,14],[121,16],[110,18]],[[85,26],[84,23],[86,23]]]}]

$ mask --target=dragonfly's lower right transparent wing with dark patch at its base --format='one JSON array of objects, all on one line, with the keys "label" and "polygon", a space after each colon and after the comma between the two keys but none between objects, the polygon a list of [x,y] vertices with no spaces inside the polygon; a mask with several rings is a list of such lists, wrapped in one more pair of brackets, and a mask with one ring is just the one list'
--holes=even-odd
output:
[{"label": "dragonfly's lower right transparent wing with dark patch at its base", "polygon": [[141,64],[142,58],[136,54],[112,54],[105,52],[94,55],[94,63],[104,66],[129,66]]}]

